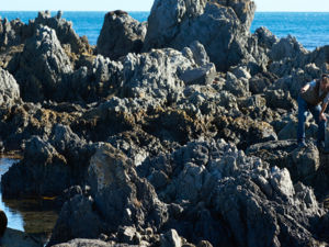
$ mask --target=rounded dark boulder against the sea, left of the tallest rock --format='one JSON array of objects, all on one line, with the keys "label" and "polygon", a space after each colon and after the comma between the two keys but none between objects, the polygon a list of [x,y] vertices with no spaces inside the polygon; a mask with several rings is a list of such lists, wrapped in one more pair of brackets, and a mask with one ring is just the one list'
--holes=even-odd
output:
[{"label": "rounded dark boulder against the sea, left of the tallest rock", "polygon": [[125,12],[105,14],[98,38],[98,54],[117,59],[128,53],[139,53],[146,35],[147,23],[139,23]]}]

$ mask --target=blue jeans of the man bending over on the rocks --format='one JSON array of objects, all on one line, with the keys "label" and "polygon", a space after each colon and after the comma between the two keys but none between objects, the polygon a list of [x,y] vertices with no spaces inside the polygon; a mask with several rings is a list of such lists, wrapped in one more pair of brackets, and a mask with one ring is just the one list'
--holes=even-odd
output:
[{"label": "blue jeans of the man bending over on the rocks", "polygon": [[327,122],[321,120],[319,121],[319,115],[321,112],[320,105],[311,105],[307,103],[302,97],[298,97],[298,127],[297,127],[297,142],[302,143],[305,141],[305,121],[306,121],[306,113],[310,111],[313,114],[317,125],[318,125],[318,143],[325,141],[326,135],[326,126]]}]

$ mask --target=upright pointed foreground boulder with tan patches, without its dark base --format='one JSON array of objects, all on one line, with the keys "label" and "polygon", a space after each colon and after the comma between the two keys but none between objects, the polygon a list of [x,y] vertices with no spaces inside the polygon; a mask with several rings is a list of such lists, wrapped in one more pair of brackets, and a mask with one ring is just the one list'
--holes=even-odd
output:
[{"label": "upright pointed foreground boulder with tan patches, without its dark base", "polygon": [[104,144],[90,161],[91,194],[111,232],[120,225],[145,226],[150,221],[159,227],[168,217],[167,206],[129,162],[124,154],[109,144]]}]

